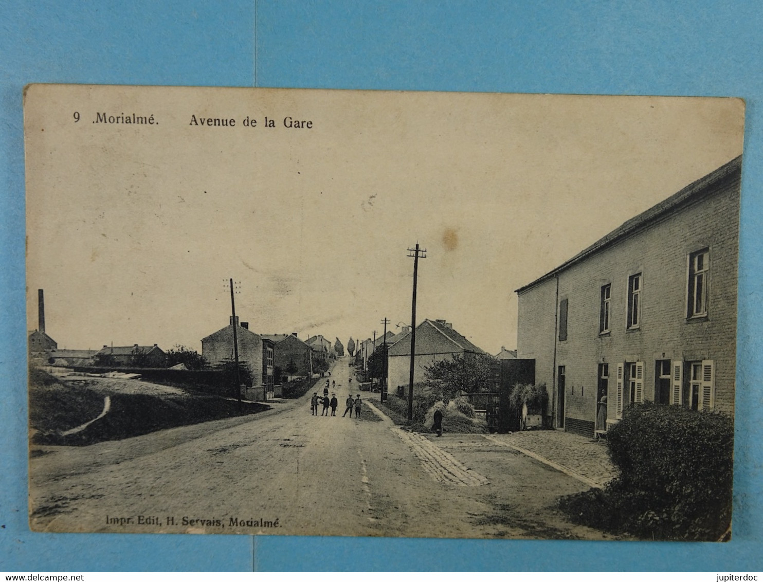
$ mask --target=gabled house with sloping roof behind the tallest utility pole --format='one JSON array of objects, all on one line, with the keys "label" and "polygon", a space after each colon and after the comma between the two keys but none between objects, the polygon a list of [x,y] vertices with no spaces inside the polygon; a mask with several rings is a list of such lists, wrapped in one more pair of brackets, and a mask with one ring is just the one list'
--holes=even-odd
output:
[{"label": "gabled house with sloping roof behind the tallest utility pole", "polygon": [[[390,391],[407,386],[410,380],[410,332],[388,349],[388,381]],[[484,354],[481,349],[453,329],[446,320],[423,320],[416,327],[414,384],[424,379],[424,368],[454,355]]]}]

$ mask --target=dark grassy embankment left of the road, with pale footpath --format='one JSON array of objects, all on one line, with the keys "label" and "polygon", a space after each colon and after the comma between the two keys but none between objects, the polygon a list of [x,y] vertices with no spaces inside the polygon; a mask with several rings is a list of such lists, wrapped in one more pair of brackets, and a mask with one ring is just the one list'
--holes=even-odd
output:
[{"label": "dark grassy embankment left of the road, with pale footpath", "polygon": [[105,394],[66,384],[32,368],[29,376],[31,442],[38,445],[91,445],[127,439],[173,426],[203,423],[268,410],[265,404],[204,394],[108,394],[111,409],[80,432],[63,435],[104,410]]}]

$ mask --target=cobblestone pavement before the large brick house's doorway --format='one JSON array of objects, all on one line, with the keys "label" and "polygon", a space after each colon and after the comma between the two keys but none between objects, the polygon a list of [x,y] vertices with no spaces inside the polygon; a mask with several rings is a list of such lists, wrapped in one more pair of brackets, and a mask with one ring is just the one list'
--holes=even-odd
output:
[{"label": "cobblestone pavement before the large brick house's doorway", "polygon": [[520,452],[533,453],[531,456],[541,457],[541,461],[560,465],[562,470],[568,470],[564,472],[584,477],[583,481],[594,487],[601,487],[617,474],[604,441],[595,442],[561,430],[527,430],[485,437]]}]

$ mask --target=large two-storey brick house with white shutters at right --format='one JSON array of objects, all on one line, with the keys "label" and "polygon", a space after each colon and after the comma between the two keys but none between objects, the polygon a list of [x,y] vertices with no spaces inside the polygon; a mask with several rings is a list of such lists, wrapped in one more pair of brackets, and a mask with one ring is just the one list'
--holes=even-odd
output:
[{"label": "large two-storey brick house with white shutters at right", "polygon": [[741,162],[517,289],[552,426],[592,436],[646,400],[733,413]]}]

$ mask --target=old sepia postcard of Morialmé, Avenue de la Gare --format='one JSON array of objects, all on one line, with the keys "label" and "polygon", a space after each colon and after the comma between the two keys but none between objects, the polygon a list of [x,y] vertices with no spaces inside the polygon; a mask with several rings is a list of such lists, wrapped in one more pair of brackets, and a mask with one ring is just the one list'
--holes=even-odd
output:
[{"label": "old sepia postcard of Morialm\u00e9, Avenue de la Gare", "polygon": [[28,86],[31,529],[729,539],[743,125]]}]

